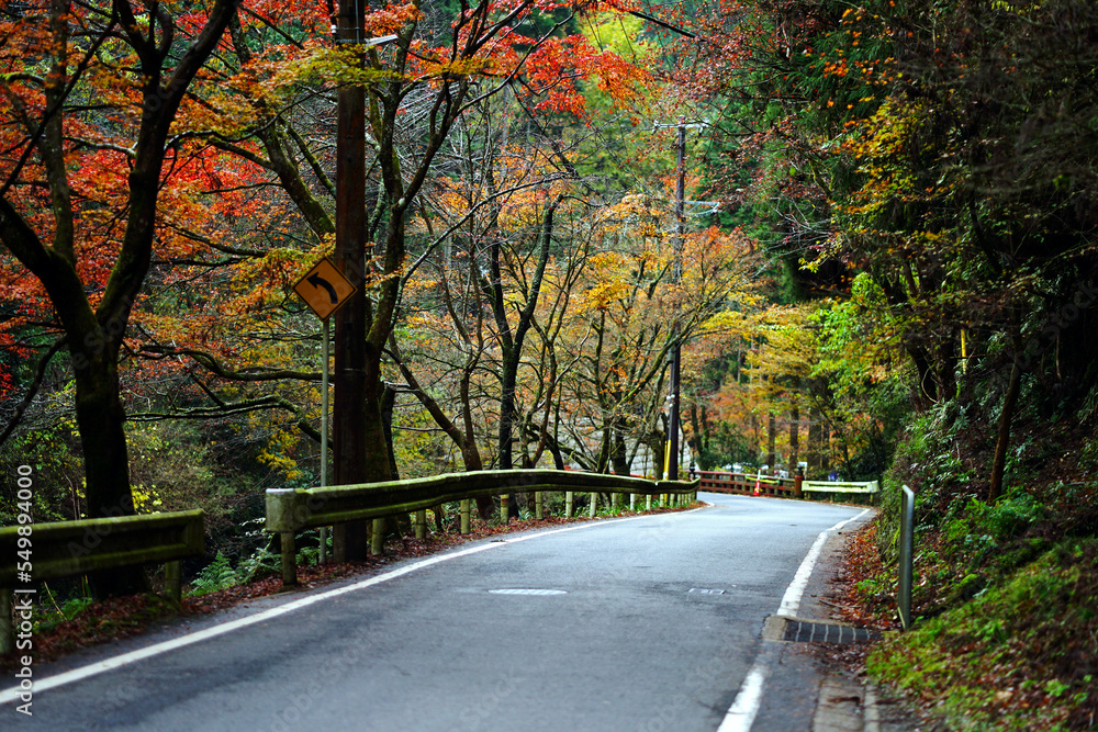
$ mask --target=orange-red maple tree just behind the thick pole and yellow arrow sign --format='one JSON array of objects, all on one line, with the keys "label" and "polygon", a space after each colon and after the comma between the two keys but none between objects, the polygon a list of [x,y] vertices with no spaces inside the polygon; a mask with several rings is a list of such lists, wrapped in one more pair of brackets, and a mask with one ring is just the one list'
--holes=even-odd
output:
[{"label": "orange-red maple tree just behind the thick pole and yellow arrow sign", "polygon": [[[167,213],[161,212],[160,229],[160,236],[170,237],[178,248],[166,251],[165,274],[154,282],[156,286],[145,301],[147,308],[137,315],[142,339],[139,344],[134,341],[134,353],[149,361],[134,365],[133,379],[141,382],[154,374],[169,375],[181,390],[179,393],[188,396],[172,399],[175,406],[149,410],[144,417],[213,418],[256,409],[282,410],[290,412],[291,424],[306,433],[318,433],[314,426],[315,391],[310,394],[306,386],[289,383],[314,382],[317,378],[314,367],[303,365],[311,356],[309,338],[303,335],[309,318],[299,315],[301,308],[292,305],[291,317],[280,313],[287,307],[288,284],[311,258],[330,247],[335,228],[334,188],[326,173],[330,156],[323,149],[324,138],[313,135],[316,124],[324,123],[320,110],[330,99],[327,94],[336,87],[368,87],[374,94],[371,138],[389,145],[388,153],[376,159],[380,168],[388,168],[388,177],[376,180],[381,188],[388,180],[392,189],[376,199],[378,209],[371,218],[371,238],[379,234],[380,239],[374,249],[378,256],[359,273],[363,285],[359,292],[365,299],[359,306],[366,307],[372,318],[378,308],[382,314],[395,312],[394,303],[400,297],[395,284],[404,264],[404,217],[423,181],[447,174],[430,162],[438,145],[447,138],[445,127],[459,120],[473,102],[483,103],[508,86],[519,89],[531,112],[575,112],[582,94],[569,70],[554,66],[554,59],[561,59],[560,49],[567,46],[573,59],[590,53],[592,58],[612,60],[582,37],[561,46],[564,42],[550,35],[562,25],[560,22],[542,37],[529,38],[517,35],[506,24],[489,23],[496,12],[498,8],[485,3],[471,11],[469,18],[452,22],[456,30],[449,32],[455,44],[451,49],[457,49],[453,53],[458,56],[466,55],[463,63],[470,69],[468,78],[463,77],[457,87],[451,83],[461,76],[455,70],[457,61],[447,59],[444,47],[430,45],[445,40],[446,25],[437,24],[437,15],[425,16],[430,21],[426,26],[417,25],[422,19],[417,20],[410,5],[371,14],[368,30],[385,33],[403,29],[402,43],[411,53],[393,46],[363,56],[347,47],[333,47],[318,30],[327,16],[317,3],[247,4],[239,18],[229,21],[226,53],[219,57],[216,67],[203,70],[205,86],[195,89],[184,103],[187,135],[182,139],[189,145],[188,155],[177,162],[165,189],[172,205],[170,211],[165,210]],[[518,23],[536,12],[538,8],[524,3],[508,9],[497,20]],[[463,35],[462,29],[468,31],[478,24],[486,24],[479,38]],[[503,40],[490,43],[493,34]],[[546,49],[539,50],[542,45]],[[429,53],[425,50],[428,48]],[[393,71],[399,58],[405,64],[403,76]],[[597,69],[598,65],[589,60],[584,76],[597,77]],[[477,75],[491,80],[494,89],[480,93],[483,89],[478,88],[479,95],[473,99],[468,95],[469,83]],[[628,83],[630,80],[618,74],[603,86],[614,92]],[[470,102],[455,103],[456,90]],[[384,94],[388,97],[382,99]],[[412,177],[412,190],[401,194],[401,176],[407,171],[397,171],[402,164],[395,150],[405,149],[407,140],[418,135],[426,122],[422,116],[408,116],[408,103],[412,100],[419,105],[430,94],[442,100],[442,117],[436,117],[436,122],[441,121],[444,128],[436,126],[437,135]],[[313,132],[303,132],[306,126]],[[406,167],[407,161],[403,165]],[[257,194],[274,187],[273,196]],[[395,206],[395,214],[385,210],[386,201]],[[228,240],[234,244],[226,244]],[[380,256],[383,246],[392,256]],[[182,290],[183,283],[199,282],[209,289],[201,294]],[[169,304],[172,302],[184,302],[187,307],[173,309]],[[370,383],[378,388],[382,381],[381,336],[391,327],[391,319],[392,315],[371,319],[378,327],[370,330],[374,363]],[[184,360],[193,365],[184,365]],[[206,375],[201,376],[193,367]],[[205,405],[201,405],[203,401]],[[384,420],[367,421],[377,426]],[[373,435],[371,439],[382,439]],[[352,452],[383,454],[372,449]]]}]

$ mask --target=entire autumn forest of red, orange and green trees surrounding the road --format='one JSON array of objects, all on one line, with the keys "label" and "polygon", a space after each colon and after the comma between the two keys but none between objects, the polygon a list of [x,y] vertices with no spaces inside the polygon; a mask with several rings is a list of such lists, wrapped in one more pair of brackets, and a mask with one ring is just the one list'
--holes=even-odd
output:
[{"label": "entire autumn forest of red, orange and green trees surrounding the road", "polygon": [[362,89],[370,480],[659,477],[681,342],[698,469],[882,477],[886,562],[917,491],[935,640],[875,673],[1093,724],[1091,2],[411,2],[370,47],[336,12],[4,3],[0,523],[26,464],[36,520],[199,507],[235,562],[266,488],[316,484],[291,288],[337,254]]}]

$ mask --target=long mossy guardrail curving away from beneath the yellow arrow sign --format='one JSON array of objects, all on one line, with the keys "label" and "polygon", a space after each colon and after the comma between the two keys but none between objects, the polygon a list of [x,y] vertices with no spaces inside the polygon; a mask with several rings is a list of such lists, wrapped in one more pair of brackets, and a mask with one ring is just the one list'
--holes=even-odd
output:
[{"label": "long mossy guardrail curving away from beneath the yellow arrow sign", "polygon": [[[600,493],[697,496],[698,481],[650,481],[642,477],[557,470],[509,470],[448,473],[407,481],[323,488],[268,488],[266,530],[278,533],[282,553],[282,583],[298,583],[294,534],[303,529],[422,513],[439,504],[461,504],[461,532],[469,532],[470,500],[511,493],[563,491],[592,494],[591,510]],[[572,500],[565,500],[571,515]],[[505,508],[503,509],[506,510]],[[506,518],[506,513],[504,513]],[[377,533],[377,532],[376,532]]]}]

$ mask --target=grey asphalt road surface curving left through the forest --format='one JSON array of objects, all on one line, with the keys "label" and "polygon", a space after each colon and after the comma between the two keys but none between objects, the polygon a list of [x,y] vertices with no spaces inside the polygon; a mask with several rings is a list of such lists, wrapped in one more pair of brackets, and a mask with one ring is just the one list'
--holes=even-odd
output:
[{"label": "grey asphalt road surface curving left through the forest", "polygon": [[33,717],[9,701],[0,729],[713,732],[817,536],[859,509],[702,497],[36,666]]}]

